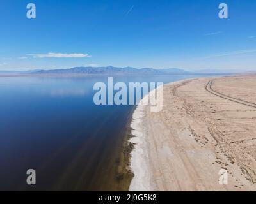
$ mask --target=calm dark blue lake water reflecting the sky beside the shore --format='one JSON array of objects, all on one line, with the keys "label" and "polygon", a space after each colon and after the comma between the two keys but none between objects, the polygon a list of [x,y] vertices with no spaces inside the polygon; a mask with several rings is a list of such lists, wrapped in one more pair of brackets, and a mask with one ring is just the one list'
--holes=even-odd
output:
[{"label": "calm dark blue lake water reflecting the sky beside the shore", "polygon": [[[196,75],[114,77],[173,82]],[[112,190],[118,145],[134,106],[93,103],[107,77],[0,77],[0,190]],[[36,170],[36,185],[26,171]]]}]

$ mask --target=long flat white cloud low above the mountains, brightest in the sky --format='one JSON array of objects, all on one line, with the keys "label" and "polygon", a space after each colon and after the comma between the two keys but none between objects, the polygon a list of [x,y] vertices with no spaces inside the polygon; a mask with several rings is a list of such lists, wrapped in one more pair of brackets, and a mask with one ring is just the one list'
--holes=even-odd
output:
[{"label": "long flat white cloud low above the mountains, brightest in the sky", "polygon": [[45,57],[54,57],[54,58],[85,58],[90,57],[88,54],[83,53],[56,53],[56,52],[48,52],[47,54],[28,54],[33,56],[34,58],[45,58]]}]

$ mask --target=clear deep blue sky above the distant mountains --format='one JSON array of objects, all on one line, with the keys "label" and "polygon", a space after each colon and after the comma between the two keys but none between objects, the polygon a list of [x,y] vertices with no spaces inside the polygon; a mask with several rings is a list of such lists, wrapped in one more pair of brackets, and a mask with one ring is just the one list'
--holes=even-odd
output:
[{"label": "clear deep blue sky above the distant mountains", "polygon": [[0,0],[0,70],[256,70],[255,20],[255,0]]}]

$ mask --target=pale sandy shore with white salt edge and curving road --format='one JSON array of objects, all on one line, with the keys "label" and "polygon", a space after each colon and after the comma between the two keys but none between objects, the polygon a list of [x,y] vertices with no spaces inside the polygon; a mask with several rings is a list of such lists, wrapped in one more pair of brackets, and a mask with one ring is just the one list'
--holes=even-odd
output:
[{"label": "pale sandy shore with white salt edge and curving road", "polygon": [[[163,110],[131,122],[130,191],[256,191],[256,76],[163,86]],[[220,184],[220,170],[228,184]]]}]

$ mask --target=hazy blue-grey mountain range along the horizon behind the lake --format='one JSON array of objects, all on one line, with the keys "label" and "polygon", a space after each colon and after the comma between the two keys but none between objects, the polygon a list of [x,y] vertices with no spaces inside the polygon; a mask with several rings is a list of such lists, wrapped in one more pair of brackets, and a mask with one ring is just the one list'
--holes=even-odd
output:
[{"label": "hazy blue-grey mountain range along the horizon behind the lake", "polygon": [[202,70],[202,71],[185,71],[178,68],[169,69],[153,69],[153,68],[118,68],[113,66],[106,67],[75,67],[70,69],[50,69],[50,70],[32,70],[32,71],[0,71],[0,75],[118,75],[118,74],[170,74],[170,75],[193,75],[193,74],[231,74],[234,71],[216,71]]}]

